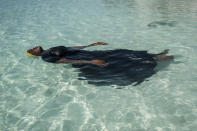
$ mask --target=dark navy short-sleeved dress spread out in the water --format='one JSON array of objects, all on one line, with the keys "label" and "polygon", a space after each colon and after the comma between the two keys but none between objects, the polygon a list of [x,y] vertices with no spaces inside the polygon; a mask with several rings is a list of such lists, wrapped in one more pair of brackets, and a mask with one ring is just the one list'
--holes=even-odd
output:
[{"label": "dark navy short-sleeved dress spread out in the water", "polygon": [[86,51],[75,50],[63,46],[48,49],[42,59],[47,62],[56,62],[61,58],[72,60],[104,60],[105,67],[93,64],[73,64],[79,68],[79,79],[87,80],[95,85],[130,85],[139,84],[152,76],[157,65],[153,54],[147,51],[133,51],[127,49]]}]

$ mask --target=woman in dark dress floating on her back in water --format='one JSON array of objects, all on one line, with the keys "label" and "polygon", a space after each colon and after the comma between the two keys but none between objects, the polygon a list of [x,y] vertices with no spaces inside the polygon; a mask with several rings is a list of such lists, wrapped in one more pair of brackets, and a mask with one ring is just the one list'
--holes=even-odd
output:
[{"label": "woman in dark dress floating on her back in water", "polygon": [[127,49],[87,51],[86,47],[107,45],[97,42],[87,46],[57,46],[44,50],[37,46],[27,51],[28,55],[41,56],[44,61],[52,63],[71,63],[79,68],[80,79],[86,79],[96,85],[139,84],[155,73],[153,70],[158,61],[172,61],[173,56],[166,56],[168,49],[159,54],[147,51]]}]

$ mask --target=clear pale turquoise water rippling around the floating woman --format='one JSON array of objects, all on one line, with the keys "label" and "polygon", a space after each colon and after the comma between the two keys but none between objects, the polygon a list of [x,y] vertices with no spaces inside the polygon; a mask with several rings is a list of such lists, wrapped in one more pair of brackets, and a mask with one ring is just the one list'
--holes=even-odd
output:
[{"label": "clear pale turquoise water rippling around the floating woman", "polygon": [[[196,0],[0,0],[0,130],[195,131]],[[173,21],[174,26],[147,25]],[[138,86],[97,87],[70,65],[25,56],[35,45],[158,53],[175,61]]]}]

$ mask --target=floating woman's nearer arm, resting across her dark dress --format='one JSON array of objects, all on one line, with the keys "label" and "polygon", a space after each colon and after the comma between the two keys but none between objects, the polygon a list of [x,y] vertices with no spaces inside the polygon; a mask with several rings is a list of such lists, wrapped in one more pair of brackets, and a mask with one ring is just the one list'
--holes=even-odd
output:
[{"label": "floating woman's nearer arm, resting across her dark dress", "polygon": [[56,63],[71,63],[71,64],[94,64],[97,66],[107,66],[107,63],[103,60],[70,60],[61,58],[56,61]]}]

